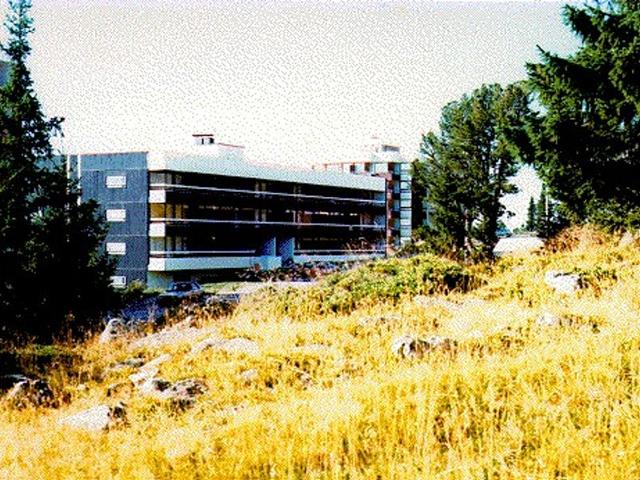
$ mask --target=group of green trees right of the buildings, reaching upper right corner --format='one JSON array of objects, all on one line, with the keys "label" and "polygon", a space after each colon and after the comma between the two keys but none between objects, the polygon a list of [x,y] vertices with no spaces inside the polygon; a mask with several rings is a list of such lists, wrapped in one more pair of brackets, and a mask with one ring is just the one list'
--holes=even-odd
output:
[{"label": "group of green trees right of the buildings, reaching upper right corner", "polygon": [[[510,177],[532,165],[545,187],[528,227],[640,224],[640,4],[565,6],[580,40],[567,57],[540,48],[528,78],[482,85],[442,110],[414,162],[418,235],[442,252],[487,256],[497,242]],[[418,212],[420,210],[415,210]]]}]

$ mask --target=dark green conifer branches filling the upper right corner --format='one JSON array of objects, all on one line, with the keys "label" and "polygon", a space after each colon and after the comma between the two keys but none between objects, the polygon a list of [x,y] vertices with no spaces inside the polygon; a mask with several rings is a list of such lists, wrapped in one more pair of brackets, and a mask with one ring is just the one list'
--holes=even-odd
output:
[{"label": "dark green conifer branches filling the upper right corner", "polygon": [[640,220],[640,4],[566,6],[582,44],[567,58],[541,50],[527,65],[543,107],[531,123],[535,166],[573,222]]}]

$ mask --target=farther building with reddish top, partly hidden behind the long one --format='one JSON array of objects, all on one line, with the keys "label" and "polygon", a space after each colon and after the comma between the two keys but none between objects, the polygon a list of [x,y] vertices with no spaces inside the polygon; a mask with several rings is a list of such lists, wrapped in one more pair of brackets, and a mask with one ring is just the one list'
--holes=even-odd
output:
[{"label": "farther building with reddish top, partly hidden behind the long one", "polygon": [[387,181],[387,245],[398,248],[411,240],[411,162],[400,147],[373,137],[358,160],[327,162],[316,170],[383,177]]}]

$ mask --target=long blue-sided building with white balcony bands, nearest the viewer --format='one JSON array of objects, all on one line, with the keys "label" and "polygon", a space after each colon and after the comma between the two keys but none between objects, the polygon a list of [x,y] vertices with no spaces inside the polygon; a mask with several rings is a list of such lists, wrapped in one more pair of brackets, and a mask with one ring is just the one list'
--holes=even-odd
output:
[{"label": "long blue-sided building with white balcony bands, nearest the viewer", "polygon": [[385,254],[383,178],[256,165],[243,147],[194,138],[183,152],[68,156],[109,223],[115,285]]}]

